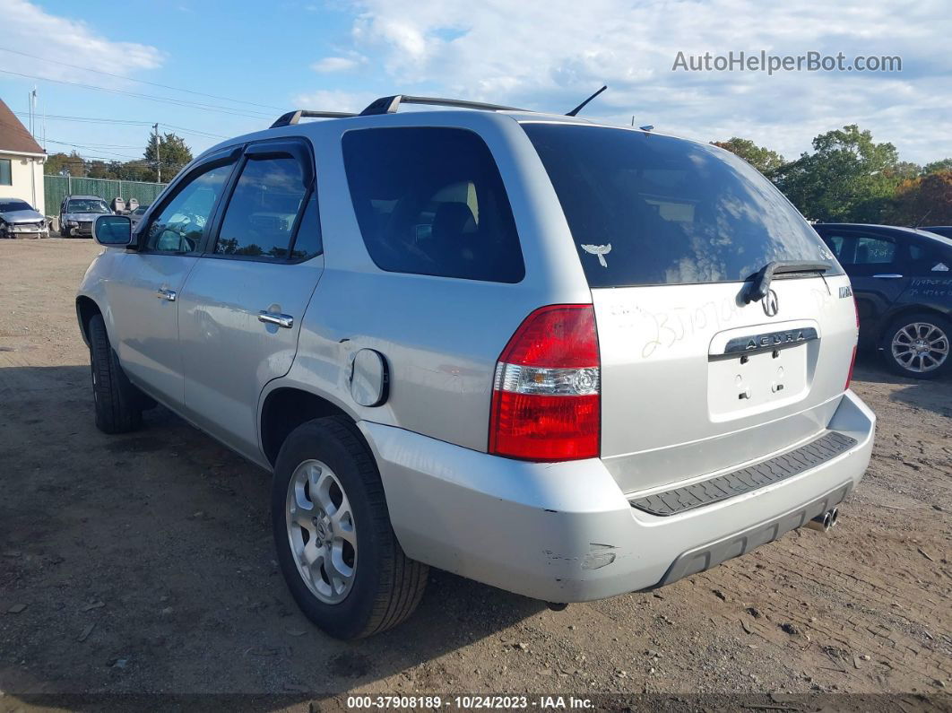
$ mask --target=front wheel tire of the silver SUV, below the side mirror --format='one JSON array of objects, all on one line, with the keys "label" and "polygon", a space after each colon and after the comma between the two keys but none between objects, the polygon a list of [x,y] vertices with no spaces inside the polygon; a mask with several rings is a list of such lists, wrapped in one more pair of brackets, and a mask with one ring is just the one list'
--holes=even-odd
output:
[{"label": "front wheel tire of the silver SUV, below the side mirror", "polygon": [[128,433],[142,426],[143,394],[122,370],[101,314],[89,320],[89,362],[96,427],[104,433]]}]

